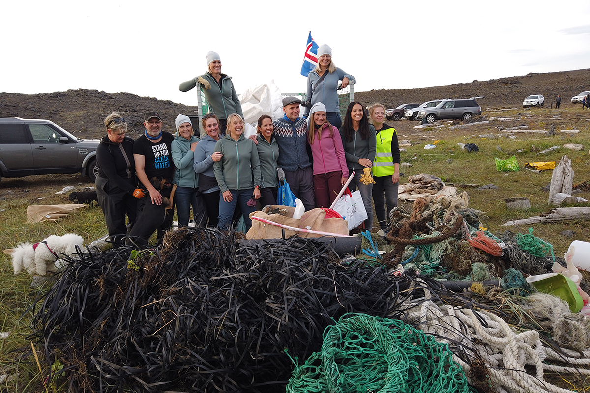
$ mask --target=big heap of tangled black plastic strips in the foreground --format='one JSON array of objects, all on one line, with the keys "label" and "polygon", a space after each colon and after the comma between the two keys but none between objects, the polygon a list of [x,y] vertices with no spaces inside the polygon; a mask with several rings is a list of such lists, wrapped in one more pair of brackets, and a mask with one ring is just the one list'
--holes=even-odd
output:
[{"label": "big heap of tangled black plastic strips in the foreground", "polygon": [[299,237],[240,245],[179,230],[162,249],[74,260],[37,303],[31,339],[64,365],[71,392],[268,392],[348,312],[398,315],[411,279],[341,265]]}]

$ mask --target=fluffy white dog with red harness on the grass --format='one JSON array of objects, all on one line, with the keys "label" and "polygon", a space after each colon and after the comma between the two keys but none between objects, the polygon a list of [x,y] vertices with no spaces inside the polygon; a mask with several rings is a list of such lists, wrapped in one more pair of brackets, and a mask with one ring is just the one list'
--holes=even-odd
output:
[{"label": "fluffy white dog with red harness on the grass", "polygon": [[[72,256],[77,253],[76,247],[82,250],[84,239],[74,233],[64,236],[51,235],[39,243],[21,243],[15,249],[4,250],[12,255],[12,267],[17,275],[24,267],[31,276],[45,276],[57,270],[55,262],[61,256]],[[61,255],[63,254],[63,255]]]}]

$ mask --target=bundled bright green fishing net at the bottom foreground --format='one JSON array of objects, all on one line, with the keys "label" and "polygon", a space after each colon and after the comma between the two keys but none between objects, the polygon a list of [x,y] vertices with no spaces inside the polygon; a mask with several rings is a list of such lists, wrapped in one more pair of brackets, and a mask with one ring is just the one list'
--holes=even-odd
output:
[{"label": "bundled bright green fishing net at the bottom foreground", "polygon": [[446,344],[401,321],[348,314],[324,331],[322,351],[296,366],[287,393],[468,392]]}]

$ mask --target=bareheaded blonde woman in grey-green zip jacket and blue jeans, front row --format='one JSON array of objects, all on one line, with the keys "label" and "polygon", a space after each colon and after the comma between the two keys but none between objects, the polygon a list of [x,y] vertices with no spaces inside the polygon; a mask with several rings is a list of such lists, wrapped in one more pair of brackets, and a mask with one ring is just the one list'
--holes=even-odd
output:
[{"label": "bareheaded blonde woman in grey-green zip jacket and blue jeans, front row", "polygon": [[228,116],[227,130],[228,133],[215,144],[215,151],[219,151],[222,158],[213,163],[213,172],[222,196],[219,198],[217,226],[230,229],[235,205],[240,203],[248,230],[252,226],[250,213],[255,210],[255,200],[260,198],[260,160],[256,145],[244,136],[244,120],[240,115],[233,113]]}]

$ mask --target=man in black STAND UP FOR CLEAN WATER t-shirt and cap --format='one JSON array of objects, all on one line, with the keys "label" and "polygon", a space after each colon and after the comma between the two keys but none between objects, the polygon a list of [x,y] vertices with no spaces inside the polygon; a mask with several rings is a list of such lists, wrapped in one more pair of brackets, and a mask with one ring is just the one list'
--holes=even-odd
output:
[{"label": "man in black STAND UP FOR CLEAN WATER t-shirt and cap", "polygon": [[[171,146],[174,136],[162,132],[162,118],[158,112],[149,112],[144,120],[146,130],[133,144],[133,158],[139,179],[137,187],[148,192],[137,202],[137,222],[129,233],[130,242],[140,248],[148,247],[149,238],[156,229],[158,243],[161,243],[164,233],[172,226],[174,214],[173,209],[166,210],[162,205],[162,197],[169,198],[172,191],[174,164]],[[160,190],[153,186],[153,177],[163,179]]]}]

